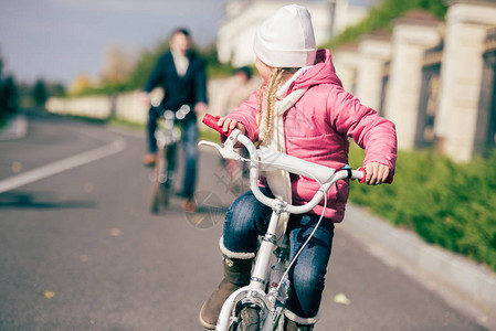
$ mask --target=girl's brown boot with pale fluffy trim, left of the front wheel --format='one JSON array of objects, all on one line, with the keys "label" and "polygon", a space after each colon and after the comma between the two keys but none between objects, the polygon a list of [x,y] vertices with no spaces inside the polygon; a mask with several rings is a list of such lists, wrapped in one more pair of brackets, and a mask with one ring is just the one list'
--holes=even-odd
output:
[{"label": "girl's brown boot with pale fluffy trim, left of the front wheel", "polygon": [[214,330],[222,305],[232,292],[250,284],[253,258],[240,259],[223,256],[224,279],[203,303],[200,310],[200,323],[209,330]]}]

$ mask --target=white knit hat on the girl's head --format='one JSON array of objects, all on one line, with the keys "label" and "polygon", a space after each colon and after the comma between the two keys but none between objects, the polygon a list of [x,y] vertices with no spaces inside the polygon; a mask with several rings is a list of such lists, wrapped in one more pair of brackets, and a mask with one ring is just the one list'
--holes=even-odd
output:
[{"label": "white knit hat on the girl's head", "polygon": [[273,67],[303,67],[315,62],[314,28],[305,7],[279,8],[256,29],[255,55]]}]

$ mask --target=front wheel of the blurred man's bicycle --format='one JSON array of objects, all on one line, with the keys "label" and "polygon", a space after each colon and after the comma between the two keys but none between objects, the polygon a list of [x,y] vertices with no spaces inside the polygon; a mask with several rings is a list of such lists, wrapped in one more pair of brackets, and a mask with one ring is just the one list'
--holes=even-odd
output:
[{"label": "front wheel of the blurred man's bicycle", "polygon": [[159,148],[157,161],[155,163],[151,178],[151,203],[150,211],[157,214],[160,207],[167,207],[169,203],[169,183],[165,181],[166,177],[166,149]]}]

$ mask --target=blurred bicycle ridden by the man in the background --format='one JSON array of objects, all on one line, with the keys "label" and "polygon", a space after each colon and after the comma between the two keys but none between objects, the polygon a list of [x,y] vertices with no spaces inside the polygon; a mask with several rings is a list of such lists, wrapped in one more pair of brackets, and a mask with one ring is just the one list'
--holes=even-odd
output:
[{"label": "blurred bicycle ridden by the man in the background", "polygon": [[151,203],[150,211],[154,214],[160,209],[167,209],[172,194],[172,181],[176,170],[176,149],[181,139],[181,130],[175,126],[176,120],[183,119],[191,108],[181,106],[178,111],[166,110],[159,119],[155,138],[157,139],[157,161],[150,175]]}]

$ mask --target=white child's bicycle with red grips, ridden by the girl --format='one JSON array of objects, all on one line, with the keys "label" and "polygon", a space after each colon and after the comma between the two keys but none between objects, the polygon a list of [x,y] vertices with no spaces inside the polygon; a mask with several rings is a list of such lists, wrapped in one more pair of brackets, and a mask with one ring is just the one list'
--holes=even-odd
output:
[{"label": "white child's bicycle with red grips, ridden by the girl", "polygon": [[[224,134],[217,126],[218,118],[205,115],[203,122],[211,128]],[[234,146],[242,143],[246,147],[250,159],[244,159],[235,152]],[[250,188],[255,197],[272,209],[272,216],[267,231],[261,239],[256,254],[255,265],[251,274],[250,285],[234,291],[223,303],[215,330],[221,331],[273,331],[283,330],[282,318],[286,300],[288,298],[289,279],[288,271],[299,253],[308,244],[316,228],[319,226],[323,215],[294,258],[288,260],[288,238],[281,231],[278,223],[283,213],[304,214],[312,211],[323,199],[324,209],[327,204],[326,192],[337,181],[342,179],[359,179],[365,181],[365,169],[351,170],[349,166],[336,170],[320,164],[312,163],[272,149],[255,148],[253,142],[240,130],[234,129],[229,134],[224,146],[221,147],[210,141],[200,141],[199,145],[214,147],[224,159],[250,161]],[[312,178],[320,184],[320,189],[305,205],[292,205],[291,203],[264,195],[258,188],[260,171],[285,170],[291,173]],[[392,182],[392,175],[388,182]],[[283,227],[284,228],[284,227]],[[273,257],[274,255],[274,257]]]}]

